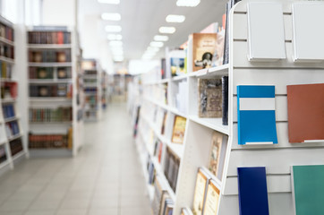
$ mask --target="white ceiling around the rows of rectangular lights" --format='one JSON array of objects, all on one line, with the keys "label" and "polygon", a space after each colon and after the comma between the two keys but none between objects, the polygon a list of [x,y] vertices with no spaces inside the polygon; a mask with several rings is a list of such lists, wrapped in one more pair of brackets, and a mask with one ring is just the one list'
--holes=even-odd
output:
[{"label": "white ceiling around the rows of rectangular lights", "polygon": [[[201,0],[196,7],[178,7],[176,0],[121,0],[120,4],[99,4],[97,0],[80,0],[80,29],[82,32],[97,29],[99,40],[105,40],[107,32],[104,28],[107,24],[119,24],[122,26],[124,42],[124,58],[140,59],[153,37],[161,26],[174,26],[174,34],[168,35],[169,40],[160,49],[156,57],[164,56],[165,47],[178,47],[188,39],[192,32],[199,32],[212,22],[222,21],[222,15],[226,12],[227,0]],[[119,22],[102,21],[101,13],[121,13]],[[185,15],[183,23],[167,23],[166,15]],[[91,21],[91,26],[86,25]],[[88,37],[89,39],[89,37]],[[84,39],[83,39],[84,40]],[[87,41],[83,41],[87,42]]]}]

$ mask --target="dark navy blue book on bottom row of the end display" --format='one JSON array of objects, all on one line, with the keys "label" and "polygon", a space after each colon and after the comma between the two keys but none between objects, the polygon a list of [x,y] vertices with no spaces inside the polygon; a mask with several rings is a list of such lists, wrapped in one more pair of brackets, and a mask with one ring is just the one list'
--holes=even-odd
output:
[{"label": "dark navy blue book on bottom row of the end display", "polygon": [[240,215],[269,215],[266,168],[237,168]]}]

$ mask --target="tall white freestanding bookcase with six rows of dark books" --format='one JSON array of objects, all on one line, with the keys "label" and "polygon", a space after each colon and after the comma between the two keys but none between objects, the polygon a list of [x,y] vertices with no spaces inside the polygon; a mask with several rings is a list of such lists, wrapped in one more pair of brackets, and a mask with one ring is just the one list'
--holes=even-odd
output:
[{"label": "tall white freestanding bookcase with six rows of dark books", "polygon": [[76,30],[28,28],[31,156],[76,155],[82,145],[80,57]]}]

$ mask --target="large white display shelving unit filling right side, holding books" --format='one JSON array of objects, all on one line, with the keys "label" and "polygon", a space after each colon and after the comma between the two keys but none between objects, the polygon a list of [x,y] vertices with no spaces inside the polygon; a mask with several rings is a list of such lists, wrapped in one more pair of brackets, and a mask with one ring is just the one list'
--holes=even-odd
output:
[{"label": "large white display shelving unit filling right side, holding books", "polygon": [[[153,211],[162,191],[173,214],[322,214],[324,30],[312,20],[323,14],[320,2],[243,0],[229,13],[228,64],[166,79],[157,69],[133,83],[129,107]],[[200,80],[224,76],[228,125],[200,116]],[[200,175],[214,208],[196,204]]]}]

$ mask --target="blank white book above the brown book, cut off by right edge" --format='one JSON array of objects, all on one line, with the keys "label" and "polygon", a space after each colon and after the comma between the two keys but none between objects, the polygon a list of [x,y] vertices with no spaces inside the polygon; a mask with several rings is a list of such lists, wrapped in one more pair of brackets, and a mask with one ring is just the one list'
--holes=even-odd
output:
[{"label": "blank white book above the brown book, cut off by right edge", "polygon": [[294,61],[324,60],[324,4],[293,4]]}]

